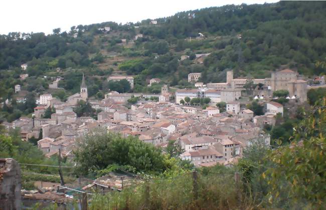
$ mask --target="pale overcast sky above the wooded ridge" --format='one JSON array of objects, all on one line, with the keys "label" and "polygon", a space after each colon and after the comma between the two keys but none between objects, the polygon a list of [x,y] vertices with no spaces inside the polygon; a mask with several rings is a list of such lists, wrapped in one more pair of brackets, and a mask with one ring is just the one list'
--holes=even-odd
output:
[{"label": "pale overcast sky above the wooded ridge", "polygon": [[178,11],[226,4],[277,2],[278,0],[2,0],[0,33],[13,31],[52,33],[78,24],[106,21],[136,22],[165,17]]}]

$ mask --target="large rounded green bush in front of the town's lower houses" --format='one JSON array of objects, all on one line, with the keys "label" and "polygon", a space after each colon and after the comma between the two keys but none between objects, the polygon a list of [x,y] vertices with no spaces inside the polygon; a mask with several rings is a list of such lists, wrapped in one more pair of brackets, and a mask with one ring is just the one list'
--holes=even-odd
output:
[{"label": "large rounded green bush in front of the town's lower houses", "polygon": [[131,166],[134,168],[132,172],[157,173],[167,168],[160,149],[134,136],[123,138],[118,133],[101,130],[82,138],[75,155],[77,170],[82,174],[107,168],[111,164]]}]

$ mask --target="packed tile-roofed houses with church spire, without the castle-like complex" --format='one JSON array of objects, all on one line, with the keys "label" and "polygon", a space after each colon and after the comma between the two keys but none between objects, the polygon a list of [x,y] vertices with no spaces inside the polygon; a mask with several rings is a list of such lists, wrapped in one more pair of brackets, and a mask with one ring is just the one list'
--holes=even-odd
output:
[{"label": "packed tile-roofed houses with church spire, without the castle-like complex", "polygon": [[[120,78],[119,78],[120,79]],[[156,80],[157,81],[157,80]],[[168,87],[162,87],[164,94]],[[130,93],[110,92],[100,101],[88,100],[87,85],[83,76],[80,93],[68,97],[66,102],[52,97],[40,96],[40,105],[35,108],[33,118],[21,117],[8,123],[20,127],[22,139],[32,136],[42,139],[38,147],[50,157],[61,154],[73,157],[76,139],[97,127],[119,132],[123,136],[134,135],[146,143],[166,147],[170,140],[179,144],[184,153],[181,158],[189,159],[197,166],[232,164],[241,157],[244,147],[254,140],[269,144],[270,136],[262,130],[265,124],[273,125],[282,105],[270,102],[268,112],[254,116],[249,109],[241,109],[240,103],[227,103],[226,111],[220,113],[216,106],[201,107],[176,104],[170,101],[139,100],[130,109],[125,106]],[[93,108],[100,109],[97,119],[77,117],[73,112],[79,100],[88,100]],[[42,118],[45,109],[52,107],[51,118]]]}]

